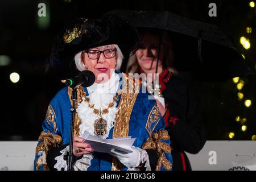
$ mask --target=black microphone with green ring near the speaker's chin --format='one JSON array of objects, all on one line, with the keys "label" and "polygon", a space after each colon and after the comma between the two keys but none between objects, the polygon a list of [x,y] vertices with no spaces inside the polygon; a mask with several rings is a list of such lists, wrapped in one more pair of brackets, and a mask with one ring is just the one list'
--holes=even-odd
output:
[{"label": "black microphone with green ring near the speaker's chin", "polygon": [[88,87],[92,85],[95,81],[95,75],[93,72],[85,70],[79,73],[79,75],[69,78],[65,81],[65,85],[70,86],[71,88],[76,88],[77,85],[83,87]]}]

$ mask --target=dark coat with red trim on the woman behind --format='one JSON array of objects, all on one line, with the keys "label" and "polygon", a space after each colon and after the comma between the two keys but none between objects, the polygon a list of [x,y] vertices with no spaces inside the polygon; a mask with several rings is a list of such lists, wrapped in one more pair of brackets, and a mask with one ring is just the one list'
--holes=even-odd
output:
[{"label": "dark coat with red trim on the woman behind", "polygon": [[172,142],[173,171],[191,170],[184,151],[197,154],[206,137],[201,110],[193,98],[188,82],[165,69],[159,76],[166,102],[166,127]]}]

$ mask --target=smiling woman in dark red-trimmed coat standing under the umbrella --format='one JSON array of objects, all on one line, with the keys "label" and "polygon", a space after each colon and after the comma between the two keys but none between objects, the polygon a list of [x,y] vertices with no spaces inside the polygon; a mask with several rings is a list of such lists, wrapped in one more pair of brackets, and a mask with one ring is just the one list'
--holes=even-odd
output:
[{"label": "smiling woman in dark red-trimmed coat standing under the umbrella", "polygon": [[138,50],[130,57],[126,71],[146,75],[147,79],[143,83],[158,102],[170,134],[172,170],[185,171],[191,170],[191,165],[184,151],[197,154],[206,140],[199,106],[187,81],[179,77],[174,61],[173,45],[167,32],[141,28]]}]

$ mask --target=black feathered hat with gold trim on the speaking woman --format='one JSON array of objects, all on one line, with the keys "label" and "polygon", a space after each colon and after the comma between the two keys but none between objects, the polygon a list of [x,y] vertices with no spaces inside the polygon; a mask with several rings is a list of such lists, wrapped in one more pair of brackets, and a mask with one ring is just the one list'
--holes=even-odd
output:
[{"label": "black feathered hat with gold trim on the speaking woman", "polygon": [[85,49],[117,44],[125,57],[136,51],[138,33],[135,27],[112,13],[100,19],[75,18],[56,35],[46,72],[61,79],[77,74],[76,53]]}]

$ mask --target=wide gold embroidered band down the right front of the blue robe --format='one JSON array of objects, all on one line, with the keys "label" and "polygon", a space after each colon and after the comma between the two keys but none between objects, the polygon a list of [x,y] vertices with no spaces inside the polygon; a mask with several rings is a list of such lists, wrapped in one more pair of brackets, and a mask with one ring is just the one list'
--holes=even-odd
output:
[{"label": "wide gold embroidered band down the right front of the blue robe", "polygon": [[[140,82],[128,77],[123,73],[123,88],[121,99],[118,105],[117,115],[115,116],[115,123],[113,129],[113,138],[127,137],[129,134],[129,121],[131,111],[133,111],[134,103],[137,99]],[[113,157],[112,171],[121,171],[122,164],[119,160]]]}]

